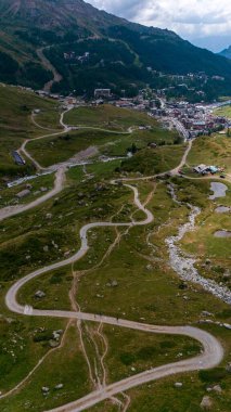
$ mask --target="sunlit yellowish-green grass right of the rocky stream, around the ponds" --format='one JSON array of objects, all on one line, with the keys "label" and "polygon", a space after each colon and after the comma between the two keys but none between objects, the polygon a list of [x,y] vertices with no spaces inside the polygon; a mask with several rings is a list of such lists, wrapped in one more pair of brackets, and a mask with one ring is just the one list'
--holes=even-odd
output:
[{"label": "sunlit yellowish-green grass right of the rocky stream, around the ponds", "polygon": [[[196,157],[197,153],[197,157]],[[207,158],[209,163],[215,163],[219,166],[226,166],[226,170],[230,171],[231,158],[231,140],[229,138],[211,138],[198,139],[193,143],[192,153],[189,156],[189,162],[193,164],[197,159]],[[213,179],[216,181],[216,177]],[[230,279],[224,279],[226,269],[231,270],[230,261],[230,240],[217,239],[214,233],[217,230],[231,230],[230,214],[218,214],[216,208],[219,205],[230,206],[231,204],[231,185],[228,182],[226,197],[219,197],[215,201],[203,202],[203,210],[197,219],[197,228],[195,231],[188,233],[183,239],[183,246],[190,253],[197,256],[197,266],[200,272],[206,278],[215,279],[218,283],[223,282],[231,287]],[[197,191],[200,196],[197,203],[204,198],[208,199],[210,194],[210,181],[181,181],[178,182],[179,188],[183,190],[184,201],[191,202],[194,192]],[[194,188],[192,190],[192,188]],[[179,198],[182,198],[180,192]],[[210,259],[210,265],[205,265],[206,259]]]}]

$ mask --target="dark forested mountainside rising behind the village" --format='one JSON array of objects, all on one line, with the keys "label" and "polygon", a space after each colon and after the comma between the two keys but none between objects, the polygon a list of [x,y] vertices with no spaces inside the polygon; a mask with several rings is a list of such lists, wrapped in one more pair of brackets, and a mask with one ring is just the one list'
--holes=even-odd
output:
[{"label": "dark forested mountainside rising behind the village", "polygon": [[[0,60],[8,61],[0,64],[2,81],[42,87],[52,78],[36,52],[44,48],[63,77],[54,85],[56,91],[127,90],[152,83],[153,70],[158,70],[224,76],[231,92],[227,59],[172,31],[129,23],[82,0],[0,0]],[[70,51],[73,57],[64,59]],[[86,52],[90,59],[79,61]]]}]

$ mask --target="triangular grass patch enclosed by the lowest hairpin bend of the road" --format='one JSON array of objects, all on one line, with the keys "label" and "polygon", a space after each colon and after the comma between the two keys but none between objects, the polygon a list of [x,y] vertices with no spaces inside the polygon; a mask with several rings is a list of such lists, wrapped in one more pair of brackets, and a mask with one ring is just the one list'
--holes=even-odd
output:
[{"label": "triangular grass patch enclosed by the lowest hairpin bend of the road", "polygon": [[193,357],[201,350],[200,344],[188,337],[143,334],[107,325],[103,333],[110,347],[106,357],[108,383],[170,363],[172,359]]}]

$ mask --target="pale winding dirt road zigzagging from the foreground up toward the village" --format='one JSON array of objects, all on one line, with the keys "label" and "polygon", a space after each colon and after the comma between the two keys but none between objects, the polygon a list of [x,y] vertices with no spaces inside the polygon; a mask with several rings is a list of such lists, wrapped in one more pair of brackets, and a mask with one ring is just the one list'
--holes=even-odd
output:
[{"label": "pale winding dirt road zigzagging from the foreground up toward the village", "polygon": [[[63,123],[63,116],[65,113],[61,115],[61,125],[65,128],[66,132],[68,130],[68,127],[64,125]],[[53,133],[52,136],[60,134],[59,133]],[[51,136],[51,134],[50,134]],[[44,137],[41,137],[42,139]],[[22,146],[22,151],[25,152],[25,146],[26,146],[27,141],[24,142]],[[177,173],[179,169],[183,166],[183,164],[187,160],[187,156],[191,150],[192,142],[189,143],[189,146],[187,147],[187,151],[183,155],[183,158],[179,165],[178,168],[171,170],[172,173]],[[31,156],[30,156],[31,157]],[[34,160],[34,159],[33,159]],[[34,160],[35,162],[35,160]],[[163,176],[165,173],[162,173]],[[138,178],[138,179],[131,179],[131,180],[146,180],[151,179],[153,177],[149,178]],[[56,172],[56,180],[55,180],[55,185],[53,191],[47,193],[44,196],[41,196],[37,201],[24,205],[24,206],[18,206],[17,210],[8,210],[3,216],[1,216],[0,211],[0,220],[4,219],[5,217],[14,216],[20,213],[23,213],[25,210],[31,209],[33,207],[38,206],[39,204],[46,202],[47,199],[51,198],[53,195],[59,193],[63,189],[64,184],[64,179],[65,179],[65,169],[60,168]],[[129,180],[129,179],[127,179]],[[112,184],[115,184],[115,182],[111,182]],[[149,333],[157,333],[157,334],[170,334],[170,335],[183,335],[183,336],[189,336],[193,339],[198,340],[202,346],[203,346],[203,351],[201,355],[175,362],[175,363],[169,363],[159,368],[154,368],[151,370],[147,370],[143,373],[136,374],[133,376],[129,376],[123,381],[119,381],[117,383],[111,384],[111,385],[102,385],[100,389],[97,389],[92,391],[91,394],[85,396],[84,398],[76,400],[74,402],[70,402],[68,404],[65,404],[63,407],[52,409],[52,412],[78,412],[78,411],[84,411],[90,407],[93,407],[94,404],[107,399],[112,398],[113,396],[124,392],[130,388],[133,388],[136,386],[139,386],[141,384],[145,384],[165,376],[169,376],[172,374],[177,373],[183,373],[183,372],[190,372],[190,371],[197,371],[202,369],[210,369],[220,363],[223,357],[223,349],[220,345],[220,343],[210,334],[207,332],[204,332],[200,329],[191,327],[191,326],[159,326],[159,325],[152,325],[152,324],[145,324],[145,323],[139,323],[139,322],[132,322],[129,320],[124,320],[124,319],[116,319],[112,317],[106,317],[106,316],[100,316],[100,314],[94,314],[94,313],[85,313],[81,311],[59,311],[59,310],[38,310],[34,309],[30,306],[22,306],[17,302],[17,294],[21,289],[22,286],[24,286],[27,282],[40,276],[41,274],[48,273],[51,270],[62,268],[64,266],[74,263],[81,259],[87,252],[89,250],[89,245],[88,245],[88,231],[94,228],[105,228],[105,227],[127,227],[127,228],[132,228],[136,226],[147,226],[154,220],[153,214],[143,205],[139,198],[139,192],[138,189],[131,184],[125,184],[129,190],[133,192],[133,202],[139,210],[141,210],[144,215],[145,218],[142,221],[131,221],[128,223],[124,222],[94,222],[94,223],[89,223],[84,226],[80,231],[79,231],[79,236],[81,240],[81,246],[79,250],[72,257],[63,260],[55,262],[53,265],[47,266],[44,268],[38,269],[23,279],[20,279],[16,281],[11,288],[8,291],[5,295],[5,305],[7,307],[15,313],[22,314],[22,316],[33,316],[33,317],[49,317],[49,318],[65,318],[65,319],[76,319],[76,320],[84,320],[84,321],[91,321],[91,322],[97,322],[99,324],[110,324],[118,327],[126,327],[130,330],[136,330],[136,331],[142,331],[142,332],[149,332]],[[3,209],[2,209],[3,210]]]}]

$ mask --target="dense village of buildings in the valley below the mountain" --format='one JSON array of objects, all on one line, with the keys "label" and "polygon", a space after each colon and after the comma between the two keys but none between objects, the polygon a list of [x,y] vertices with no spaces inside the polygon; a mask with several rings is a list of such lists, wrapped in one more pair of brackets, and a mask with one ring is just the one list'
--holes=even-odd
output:
[{"label": "dense village of buildings in the valley below the mountain", "polygon": [[[189,75],[190,76],[190,75]],[[203,75],[202,75],[203,76]],[[150,116],[161,119],[167,127],[176,128],[184,140],[202,134],[210,134],[215,131],[229,129],[231,123],[223,116],[216,116],[214,110],[226,103],[214,103],[211,105],[189,103],[187,101],[167,101],[150,89],[140,90],[134,98],[115,96],[111,89],[94,89],[94,96],[88,103],[85,100],[77,100],[74,95],[63,96],[47,92],[44,90],[35,91],[40,96],[49,96],[57,100],[64,106],[90,104],[100,105],[104,102],[116,107],[132,108],[139,112],[146,112]]]}]

